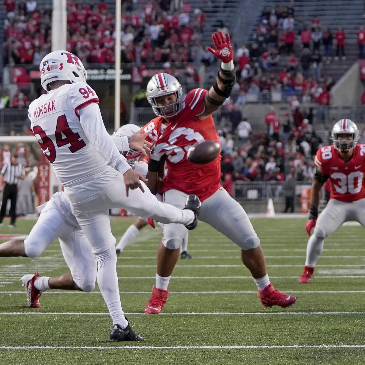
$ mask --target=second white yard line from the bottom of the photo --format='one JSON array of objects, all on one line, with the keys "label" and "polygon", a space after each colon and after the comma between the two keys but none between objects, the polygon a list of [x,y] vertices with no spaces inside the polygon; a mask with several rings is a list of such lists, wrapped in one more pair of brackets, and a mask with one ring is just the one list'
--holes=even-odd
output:
[{"label": "second white yard line from the bottom of the photo", "polygon": [[[107,312],[0,312],[0,315],[43,315],[43,316],[54,316],[54,315],[65,315],[65,316],[109,316]],[[146,313],[124,313],[125,315],[142,315],[149,316]],[[255,316],[255,315],[364,315],[365,312],[176,312],[176,313],[160,313],[160,316],[199,316],[199,315],[227,315],[227,316]]]}]

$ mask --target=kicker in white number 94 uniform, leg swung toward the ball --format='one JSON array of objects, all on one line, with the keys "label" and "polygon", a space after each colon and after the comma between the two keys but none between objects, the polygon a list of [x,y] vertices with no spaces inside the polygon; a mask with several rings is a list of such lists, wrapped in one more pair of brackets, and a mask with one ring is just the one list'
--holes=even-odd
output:
[{"label": "kicker in white number 94 uniform, leg swung toward the ball", "polygon": [[97,283],[113,322],[110,338],[142,340],[129,326],[120,304],[115,238],[108,210],[125,208],[143,218],[181,223],[192,229],[197,224],[199,202],[191,196],[188,209],[181,210],[159,202],[149,191],[146,179],[131,169],[112,143],[101,118],[99,99],[85,83],[86,70],[74,54],[51,52],[39,70],[47,94],[29,105],[31,129],[96,255]]}]

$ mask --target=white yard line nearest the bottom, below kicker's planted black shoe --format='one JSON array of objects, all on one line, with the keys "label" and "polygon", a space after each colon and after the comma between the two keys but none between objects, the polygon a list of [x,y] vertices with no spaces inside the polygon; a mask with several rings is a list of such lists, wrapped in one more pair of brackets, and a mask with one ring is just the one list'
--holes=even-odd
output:
[{"label": "white yard line nearest the bottom, below kicker's planted black shoe", "polygon": [[0,346],[1,350],[236,350],[236,349],[363,349],[365,345],[228,345],[228,346]]}]

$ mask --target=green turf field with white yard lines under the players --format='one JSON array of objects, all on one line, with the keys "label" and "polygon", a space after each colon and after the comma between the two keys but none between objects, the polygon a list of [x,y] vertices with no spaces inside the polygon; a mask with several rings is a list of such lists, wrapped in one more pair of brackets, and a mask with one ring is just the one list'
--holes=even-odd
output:
[{"label": "green turf field with white yard lines under the players", "polygon": [[[134,219],[112,219],[117,239]],[[145,315],[155,282],[161,230],[146,227],[118,259],[124,311],[145,341],[109,341],[111,320],[92,293],[47,291],[43,309],[26,308],[19,278],[67,272],[58,243],[42,257],[0,258],[0,364],[365,364],[364,228],[328,238],[311,284],[304,265],[305,218],[252,219],[274,286],[296,295],[287,309],[262,307],[239,249],[204,223],[189,234],[193,260],[179,260],[161,315]],[[27,234],[18,220],[1,234]],[[1,241],[1,242],[4,242]]]}]

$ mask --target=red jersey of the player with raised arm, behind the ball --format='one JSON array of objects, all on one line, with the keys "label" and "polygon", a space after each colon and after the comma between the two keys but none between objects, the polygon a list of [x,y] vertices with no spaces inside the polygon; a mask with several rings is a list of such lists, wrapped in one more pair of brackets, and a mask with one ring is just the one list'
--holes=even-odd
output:
[{"label": "red jersey of the player with raised arm, behind the ball", "polygon": [[[221,187],[220,155],[206,165],[193,164],[186,158],[189,147],[196,142],[212,139],[220,143],[213,117],[210,115],[200,120],[197,116],[205,110],[203,101],[207,92],[204,89],[193,89],[188,93],[183,101],[183,108],[178,115],[169,118],[170,123],[158,135],[151,149],[153,160],[159,161],[166,155],[168,172],[161,193],[177,189],[187,194],[195,194],[203,201]],[[158,124],[162,123],[162,119],[159,117],[154,120]]]}]

